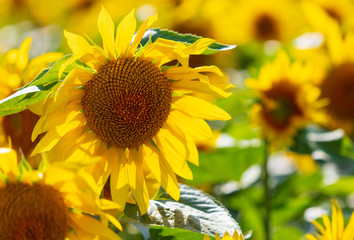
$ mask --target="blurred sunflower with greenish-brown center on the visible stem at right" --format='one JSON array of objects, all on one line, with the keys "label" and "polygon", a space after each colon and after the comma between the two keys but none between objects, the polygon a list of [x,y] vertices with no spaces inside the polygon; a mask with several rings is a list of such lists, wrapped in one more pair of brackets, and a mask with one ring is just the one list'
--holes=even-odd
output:
[{"label": "blurred sunflower with greenish-brown center on the visible stem at right", "polygon": [[246,81],[259,94],[259,102],[251,109],[251,119],[273,146],[289,144],[297,130],[325,120],[319,112],[320,90],[311,82],[312,71],[310,65],[290,63],[287,54],[280,51],[274,62],[261,68],[258,80]]}]

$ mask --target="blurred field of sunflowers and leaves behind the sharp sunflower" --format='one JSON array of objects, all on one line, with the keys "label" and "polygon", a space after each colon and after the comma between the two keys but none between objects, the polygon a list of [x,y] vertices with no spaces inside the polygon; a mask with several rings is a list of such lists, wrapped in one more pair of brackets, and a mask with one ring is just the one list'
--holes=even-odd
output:
[{"label": "blurred field of sunflowers and leaves behind the sharp sunflower", "polygon": [[[330,215],[330,198],[348,221],[354,208],[354,1],[0,0],[1,99],[31,81],[26,67],[15,66],[12,49],[31,37],[29,61],[68,54],[63,29],[100,42],[102,5],[116,23],[134,8],[140,23],[158,13],[154,27],[237,45],[190,59],[193,67],[217,65],[235,88],[231,97],[215,100],[232,120],[209,123],[215,139],[197,143],[200,166],[191,165],[194,180],[185,183],[223,203],[255,240],[266,239],[269,199],[272,239],[305,239],[314,231],[312,220]],[[1,118],[0,143],[11,139],[28,155],[36,122],[30,115]],[[143,239],[125,224],[123,237]]]}]

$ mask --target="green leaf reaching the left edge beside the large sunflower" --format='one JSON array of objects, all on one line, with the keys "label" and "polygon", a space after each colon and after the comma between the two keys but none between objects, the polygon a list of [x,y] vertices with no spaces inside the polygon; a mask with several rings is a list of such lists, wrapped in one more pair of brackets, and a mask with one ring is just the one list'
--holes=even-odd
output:
[{"label": "green leaf reaching the left edge beside the large sunflower", "polygon": [[[0,116],[14,114],[27,109],[30,105],[38,103],[46,98],[50,91],[60,82],[58,79],[58,71],[60,66],[67,61],[71,55],[66,55],[54,63],[50,68],[43,70],[30,83],[9,97],[0,101]],[[68,73],[75,67],[75,65],[82,65],[75,62],[69,65],[62,74],[64,79]],[[82,65],[81,67],[85,67]]]}]

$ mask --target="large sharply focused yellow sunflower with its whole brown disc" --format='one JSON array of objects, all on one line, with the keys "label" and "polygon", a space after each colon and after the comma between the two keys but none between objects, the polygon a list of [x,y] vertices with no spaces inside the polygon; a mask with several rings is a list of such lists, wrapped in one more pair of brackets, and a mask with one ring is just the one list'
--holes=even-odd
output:
[{"label": "large sharply focused yellow sunflower with its whole brown disc", "polygon": [[[212,138],[204,119],[230,119],[225,111],[193,96],[229,96],[212,84],[222,78],[217,67],[188,66],[189,55],[201,54],[214,40],[202,38],[186,46],[157,39],[139,46],[155,20],[148,18],[134,35],[132,11],[114,34],[113,21],[102,8],[98,29],[103,49],[65,32],[73,56],[60,72],[75,60],[91,69],[72,70],[52,92],[32,135],[35,139],[46,132],[33,155],[47,152],[50,161],[96,161],[88,170],[99,186],[110,175],[112,198],[121,210],[126,201],[135,200],[142,213],[156,190],[146,176],[154,176],[178,199],[176,174],[192,179],[186,160],[198,164],[195,139]],[[174,60],[180,66],[166,65]]]}]

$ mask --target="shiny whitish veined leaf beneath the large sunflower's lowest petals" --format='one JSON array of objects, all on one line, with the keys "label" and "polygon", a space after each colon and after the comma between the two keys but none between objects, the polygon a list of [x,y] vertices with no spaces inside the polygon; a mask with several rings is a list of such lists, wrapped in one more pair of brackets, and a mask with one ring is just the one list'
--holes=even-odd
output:
[{"label": "shiny whitish veined leaf beneath the large sunflower's lowest petals", "polygon": [[141,223],[159,225],[169,228],[181,228],[210,236],[241,233],[238,223],[228,210],[213,197],[195,188],[180,184],[178,202],[169,200],[165,194],[162,199],[150,200],[147,214],[140,216],[136,206],[128,205],[125,214]]}]

